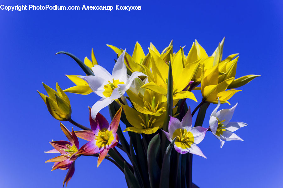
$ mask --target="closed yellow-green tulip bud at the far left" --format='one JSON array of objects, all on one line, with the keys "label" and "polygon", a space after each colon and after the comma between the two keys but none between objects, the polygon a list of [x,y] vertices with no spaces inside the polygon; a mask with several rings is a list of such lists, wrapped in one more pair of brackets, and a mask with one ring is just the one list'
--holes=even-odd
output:
[{"label": "closed yellow-green tulip bud at the far left", "polygon": [[56,83],[57,91],[53,90],[51,87],[45,85],[44,83],[42,84],[49,96],[46,96],[39,91],[37,92],[45,102],[47,109],[53,116],[53,118],[59,121],[68,121],[69,119],[71,119],[72,109],[69,98],[60,88],[58,83]]}]

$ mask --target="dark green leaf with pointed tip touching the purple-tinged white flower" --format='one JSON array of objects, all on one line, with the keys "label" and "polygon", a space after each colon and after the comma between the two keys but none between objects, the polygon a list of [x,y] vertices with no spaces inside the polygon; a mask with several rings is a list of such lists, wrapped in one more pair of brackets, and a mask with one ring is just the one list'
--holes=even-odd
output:
[{"label": "dark green leaf with pointed tip touching the purple-tinged white flower", "polygon": [[159,188],[169,188],[169,174],[170,174],[170,156],[172,148],[174,147],[174,142],[176,140],[176,137],[172,140],[172,142],[167,147],[163,162],[162,162],[162,168],[160,173],[160,182],[159,182]]}]

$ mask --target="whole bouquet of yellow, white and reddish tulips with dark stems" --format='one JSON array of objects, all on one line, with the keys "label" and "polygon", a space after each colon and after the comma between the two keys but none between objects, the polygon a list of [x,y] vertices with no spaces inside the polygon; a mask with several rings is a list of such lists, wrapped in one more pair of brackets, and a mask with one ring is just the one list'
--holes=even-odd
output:
[{"label": "whole bouquet of yellow, white and reddish tulips with dark stems", "polygon": [[[197,40],[187,55],[184,47],[174,53],[172,41],[161,53],[151,43],[147,55],[138,42],[132,55],[108,45],[117,55],[112,74],[97,64],[93,50],[91,60],[86,57],[84,62],[68,52],[58,52],[69,55],[86,73],[86,76],[66,75],[75,84],[68,89],[62,90],[57,83],[55,91],[43,83],[47,95],[38,92],[55,119],[83,129],[68,130],[60,122],[68,141],[52,141],[54,149],[46,152],[59,154],[46,161],[54,162],[52,170],[68,170],[63,187],[74,175],[75,161],[81,155],[96,156],[97,167],[103,159],[111,161],[125,174],[128,187],[195,187],[191,178],[192,156],[206,158],[197,144],[211,133],[220,140],[221,148],[225,141],[242,140],[234,131],[247,124],[231,121],[237,104],[230,109],[219,107],[241,91],[235,88],[259,76],[235,79],[238,54],[222,60],[224,40],[211,56]],[[199,100],[194,95],[196,90],[202,93]],[[94,92],[101,97],[89,107],[90,126],[71,119],[71,105],[65,92],[82,95]],[[192,112],[186,99],[188,104],[199,102]],[[217,106],[209,122],[204,122],[210,104]],[[107,106],[111,123],[99,113]],[[129,140],[125,133],[129,134]],[[80,146],[78,138],[88,142]]]}]

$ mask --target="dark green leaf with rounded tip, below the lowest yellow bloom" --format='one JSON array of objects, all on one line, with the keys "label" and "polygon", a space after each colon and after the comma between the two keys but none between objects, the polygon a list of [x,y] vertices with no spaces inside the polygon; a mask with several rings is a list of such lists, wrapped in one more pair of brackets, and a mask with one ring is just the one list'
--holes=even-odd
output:
[{"label": "dark green leaf with rounded tip, below the lowest yellow bloom", "polygon": [[157,163],[157,154],[160,148],[160,136],[155,135],[148,144],[147,148],[147,167],[150,187],[158,187],[160,180],[160,168]]}]

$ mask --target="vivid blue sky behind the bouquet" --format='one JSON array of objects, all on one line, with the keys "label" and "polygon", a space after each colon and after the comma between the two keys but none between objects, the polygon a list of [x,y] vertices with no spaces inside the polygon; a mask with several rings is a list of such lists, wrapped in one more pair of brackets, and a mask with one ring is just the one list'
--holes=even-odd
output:
[{"label": "vivid blue sky behind the bouquet", "polygon": [[[262,75],[241,87],[229,101],[239,102],[232,121],[248,123],[236,131],[244,139],[228,141],[220,149],[219,140],[207,134],[199,147],[207,156],[193,158],[193,182],[206,187],[282,187],[282,1],[1,1],[0,4],[58,6],[142,6],[142,10],[51,11],[0,10],[0,118],[2,151],[0,187],[61,187],[66,171],[50,171],[44,163],[56,154],[51,139],[65,140],[59,122],[52,118],[36,92],[48,86],[65,89],[74,84],[65,74],[83,75],[66,55],[81,60],[91,58],[108,71],[115,53],[106,46],[127,48],[132,53],[136,41],[147,53],[150,42],[163,50],[173,39],[174,51],[194,39],[211,55],[225,36],[224,55],[240,53],[236,77]],[[88,123],[88,106],[99,97],[68,94],[72,118]],[[200,95],[196,92],[200,100]],[[187,100],[192,108],[197,103]],[[210,105],[208,115],[216,105]],[[220,108],[229,108],[228,104]],[[108,109],[101,113],[108,118]],[[71,129],[69,122],[63,124]],[[208,127],[208,117],[204,127]],[[123,129],[123,127],[122,127]],[[79,130],[79,129],[77,129]],[[82,142],[83,143],[83,142]],[[82,145],[82,144],[81,144]],[[68,187],[126,187],[124,175],[107,160],[96,168],[96,157],[80,157]]]}]

